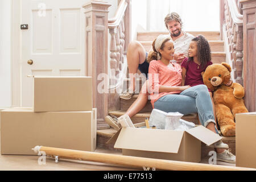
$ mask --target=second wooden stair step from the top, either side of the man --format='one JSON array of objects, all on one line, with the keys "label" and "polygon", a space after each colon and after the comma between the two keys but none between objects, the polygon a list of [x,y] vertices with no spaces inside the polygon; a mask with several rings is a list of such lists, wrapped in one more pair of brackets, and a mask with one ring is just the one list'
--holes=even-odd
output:
[{"label": "second wooden stair step from the top, either side of the man", "polygon": [[[142,46],[146,49],[147,52],[152,51],[152,42],[150,41],[140,41]],[[222,40],[209,40],[210,51],[212,52],[221,52],[224,51],[224,41]]]}]

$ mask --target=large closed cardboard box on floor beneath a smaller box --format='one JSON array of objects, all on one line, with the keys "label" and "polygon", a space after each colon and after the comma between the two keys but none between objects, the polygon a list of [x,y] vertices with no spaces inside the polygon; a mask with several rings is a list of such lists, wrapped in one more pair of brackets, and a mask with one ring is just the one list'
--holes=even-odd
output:
[{"label": "large closed cardboard box on floor beneath a smaller box", "polygon": [[31,148],[47,146],[94,151],[96,109],[34,113],[32,108],[1,111],[1,154],[36,155]]}]

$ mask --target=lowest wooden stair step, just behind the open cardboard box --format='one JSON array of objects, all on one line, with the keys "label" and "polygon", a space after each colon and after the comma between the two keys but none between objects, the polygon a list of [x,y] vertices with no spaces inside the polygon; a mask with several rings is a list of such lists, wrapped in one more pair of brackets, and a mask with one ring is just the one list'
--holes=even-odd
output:
[{"label": "lowest wooden stair step, just behind the open cardboard box", "polygon": [[[115,129],[106,129],[106,130],[97,130],[97,147],[108,148],[109,150],[122,151],[121,149],[114,148],[114,144],[107,144],[108,140],[117,133]],[[232,154],[236,155],[236,137],[222,137],[222,141],[229,145],[229,148],[232,150]],[[213,148],[206,146],[201,142],[201,158],[209,157],[209,152],[213,151]]]}]

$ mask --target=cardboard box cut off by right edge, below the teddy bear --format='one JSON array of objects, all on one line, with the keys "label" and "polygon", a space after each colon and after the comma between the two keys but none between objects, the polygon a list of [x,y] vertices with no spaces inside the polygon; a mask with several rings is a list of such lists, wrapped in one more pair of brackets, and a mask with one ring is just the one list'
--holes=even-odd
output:
[{"label": "cardboard box cut off by right edge, below the teddy bear", "polygon": [[256,112],[236,114],[236,166],[256,168]]}]

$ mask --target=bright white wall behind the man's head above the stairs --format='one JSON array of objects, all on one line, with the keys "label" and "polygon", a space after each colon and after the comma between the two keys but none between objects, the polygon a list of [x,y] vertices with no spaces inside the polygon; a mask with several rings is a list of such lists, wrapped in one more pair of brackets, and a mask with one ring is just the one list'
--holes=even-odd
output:
[{"label": "bright white wall behind the man's head above the stairs", "polygon": [[219,0],[134,0],[132,30],[148,27],[147,31],[167,31],[164,17],[176,12],[181,16],[185,31],[220,31],[219,3]]}]

